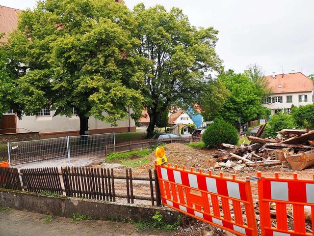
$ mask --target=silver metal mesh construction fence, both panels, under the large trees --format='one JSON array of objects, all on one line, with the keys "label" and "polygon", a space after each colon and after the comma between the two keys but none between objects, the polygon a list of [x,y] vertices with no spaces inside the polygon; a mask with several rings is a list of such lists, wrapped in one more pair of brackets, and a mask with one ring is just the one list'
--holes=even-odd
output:
[{"label": "silver metal mesh construction fence, both panels, under the large trees", "polygon": [[10,166],[31,162],[65,160],[60,166],[105,159],[105,145],[115,143],[114,133],[68,136],[8,143]]}]

